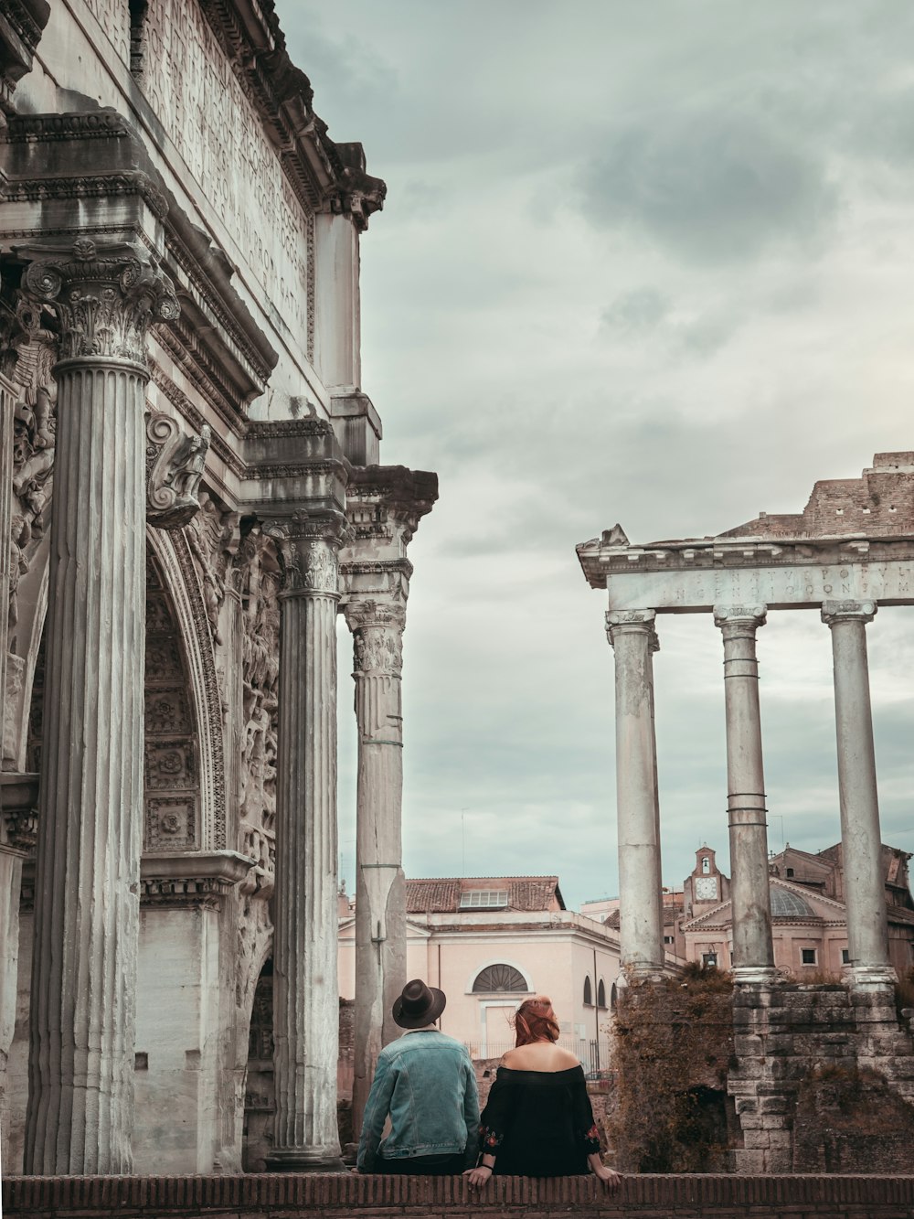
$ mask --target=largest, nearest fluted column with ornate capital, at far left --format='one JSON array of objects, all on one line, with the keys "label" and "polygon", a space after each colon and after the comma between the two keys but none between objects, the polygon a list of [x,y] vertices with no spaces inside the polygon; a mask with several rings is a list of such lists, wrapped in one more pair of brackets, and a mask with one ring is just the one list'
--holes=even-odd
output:
[{"label": "largest, nearest fluted column with ornate capital, at far left", "polygon": [[57,441],[26,1173],[130,1171],[145,646],[145,340],[174,318],[138,245],[21,251],[54,302]]}]

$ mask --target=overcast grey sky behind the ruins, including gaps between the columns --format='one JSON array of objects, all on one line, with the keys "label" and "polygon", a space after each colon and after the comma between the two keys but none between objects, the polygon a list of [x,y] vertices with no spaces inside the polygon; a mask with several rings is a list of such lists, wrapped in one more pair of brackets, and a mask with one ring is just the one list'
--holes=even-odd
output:
[{"label": "overcast grey sky behind the ruins, including gaps between the columns", "polygon": [[[383,460],[438,471],[412,546],[408,875],[615,894],[612,652],[575,544],[799,511],[914,449],[914,7],[278,0],[388,202],[362,245]],[[884,840],[914,851],[914,610],[869,628]],[[721,645],[663,618],[664,883],[728,865]],[[353,868],[344,640],[340,825]],[[759,634],[769,841],[840,836],[817,614]]]}]

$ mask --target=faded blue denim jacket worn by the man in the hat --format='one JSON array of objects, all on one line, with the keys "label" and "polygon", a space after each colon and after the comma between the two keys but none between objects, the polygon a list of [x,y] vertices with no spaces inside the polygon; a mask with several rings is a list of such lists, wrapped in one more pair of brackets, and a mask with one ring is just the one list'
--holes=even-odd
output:
[{"label": "faded blue denim jacket worn by the man in the hat", "polygon": [[[390,1113],[390,1134],[381,1141]],[[479,1093],[467,1047],[444,1032],[407,1032],[378,1056],[358,1142],[358,1168],[378,1157],[464,1153],[475,1163]]]}]

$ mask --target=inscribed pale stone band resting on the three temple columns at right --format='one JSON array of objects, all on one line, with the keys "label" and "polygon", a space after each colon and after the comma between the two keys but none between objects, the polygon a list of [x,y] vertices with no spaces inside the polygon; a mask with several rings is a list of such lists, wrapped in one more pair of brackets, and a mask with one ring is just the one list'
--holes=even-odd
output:
[{"label": "inscribed pale stone band resting on the three temple columns at right", "polygon": [[914,563],[845,563],[832,567],[746,567],[693,572],[613,573],[609,610],[667,610],[679,613],[713,606],[767,605],[818,608],[823,601],[914,602]]}]

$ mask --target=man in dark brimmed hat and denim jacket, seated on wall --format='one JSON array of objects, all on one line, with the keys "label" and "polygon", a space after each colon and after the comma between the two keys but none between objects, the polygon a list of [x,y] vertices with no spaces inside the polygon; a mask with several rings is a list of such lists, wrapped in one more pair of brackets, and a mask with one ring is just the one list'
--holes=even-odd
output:
[{"label": "man in dark brimmed hat and denim jacket, seated on wall", "polygon": [[[445,1036],[435,1020],[444,991],[416,978],[394,1003],[407,1031],[378,1054],[362,1119],[360,1173],[445,1176],[476,1159],[479,1093],[467,1047]],[[381,1140],[385,1118],[390,1132]]]}]

